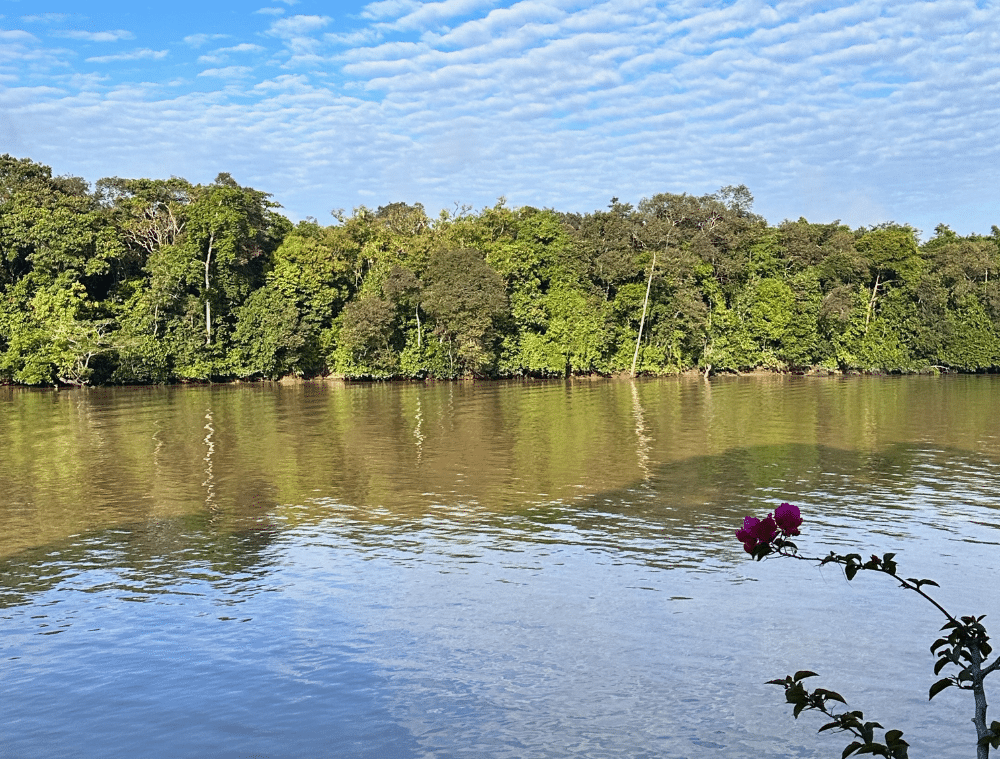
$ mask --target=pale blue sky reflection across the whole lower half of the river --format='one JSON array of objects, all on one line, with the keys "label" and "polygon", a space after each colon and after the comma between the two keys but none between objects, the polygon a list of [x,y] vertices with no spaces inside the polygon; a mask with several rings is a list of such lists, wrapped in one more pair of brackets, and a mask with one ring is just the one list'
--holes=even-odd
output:
[{"label": "pale blue sky reflection across the whole lower half of the river", "polygon": [[[926,704],[939,620],[879,578],[747,563],[714,530],[695,533],[715,548],[698,563],[690,532],[567,505],[374,534],[355,507],[320,507],[287,530],[117,530],[9,563],[25,592],[2,613],[5,753],[826,756],[836,741],[761,684],[806,666],[940,746],[920,753],[967,753],[963,699]],[[994,566],[1000,533],[969,521],[989,512],[909,507],[902,526],[878,503],[821,514],[801,545],[895,524],[876,542],[998,616],[963,589]]]}]

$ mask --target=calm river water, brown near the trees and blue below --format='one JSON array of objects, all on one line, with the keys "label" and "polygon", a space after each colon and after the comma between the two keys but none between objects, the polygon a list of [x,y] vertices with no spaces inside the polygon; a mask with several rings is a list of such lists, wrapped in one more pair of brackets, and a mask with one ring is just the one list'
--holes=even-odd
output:
[{"label": "calm river water, brown near the trees and blue below", "polygon": [[0,388],[0,756],[837,756],[806,668],[972,756],[932,607],[733,532],[989,624],[998,483],[997,377]]}]

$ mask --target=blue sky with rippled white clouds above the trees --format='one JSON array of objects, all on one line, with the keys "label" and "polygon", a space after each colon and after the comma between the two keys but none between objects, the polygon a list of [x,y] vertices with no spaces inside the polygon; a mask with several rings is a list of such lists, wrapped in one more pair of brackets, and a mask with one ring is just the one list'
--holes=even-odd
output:
[{"label": "blue sky with rippled white clouds above the trees", "polygon": [[747,185],[771,223],[1000,225],[1000,0],[0,0],[0,153],[289,218]]}]

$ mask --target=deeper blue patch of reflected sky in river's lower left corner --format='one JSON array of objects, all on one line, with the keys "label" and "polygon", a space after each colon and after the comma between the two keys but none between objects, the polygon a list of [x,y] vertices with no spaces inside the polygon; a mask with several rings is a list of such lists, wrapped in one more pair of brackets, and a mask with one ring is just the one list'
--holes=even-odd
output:
[{"label": "deeper blue patch of reflected sky in river's lower left corner", "polygon": [[311,629],[264,572],[107,559],[3,612],[0,754],[416,756],[338,610]]}]

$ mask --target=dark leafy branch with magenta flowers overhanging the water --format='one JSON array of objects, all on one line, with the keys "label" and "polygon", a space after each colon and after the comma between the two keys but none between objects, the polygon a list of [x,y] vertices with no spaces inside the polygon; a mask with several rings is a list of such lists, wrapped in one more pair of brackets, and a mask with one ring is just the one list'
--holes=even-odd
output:
[{"label": "dark leafy branch with magenta flowers overhanging the water", "polygon": [[[931,644],[931,653],[938,657],[934,665],[934,674],[940,675],[946,667],[957,668],[957,672],[937,680],[930,687],[929,698],[933,699],[946,688],[955,687],[960,690],[972,691],[975,710],[972,722],[976,727],[976,757],[989,759],[990,748],[1000,749],[1000,722],[994,720],[986,723],[986,691],[983,681],[986,676],[1000,668],[1000,657],[987,662],[992,652],[989,635],[982,624],[983,617],[956,617],[932,598],[925,587],[939,587],[933,580],[919,580],[915,577],[900,577],[897,573],[894,553],[886,553],[881,557],[872,554],[865,561],[861,554],[849,553],[845,556],[830,552],[825,557],[802,556],[791,538],[800,534],[802,515],[797,506],[783,503],[763,519],[746,517],[743,528],[736,531],[736,537],[743,543],[743,550],[755,561],[767,557],[799,559],[800,561],[817,562],[820,566],[838,564],[844,568],[847,579],[853,580],[859,572],[869,571],[888,575],[899,583],[901,588],[912,590],[921,598],[932,604],[947,620],[941,627],[942,637]],[[903,740],[901,730],[885,730],[878,722],[866,722],[864,713],[860,711],[836,711],[835,703],[846,706],[847,702],[839,694],[825,688],[808,690],[803,680],[816,677],[815,672],[800,670],[794,675],[777,680],[769,680],[772,685],[781,685],[785,689],[785,700],[793,705],[792,716],[798,719],[803,711],[815,710],[829,719],[819,728],[819,732],[834,730],[849,733],[853,740],[844,749],[842,759],[852,754],[873,754],[887,759],[907,759],[909,744]],[[876,730],[883,731],[882,741],[876,741]]]}]

